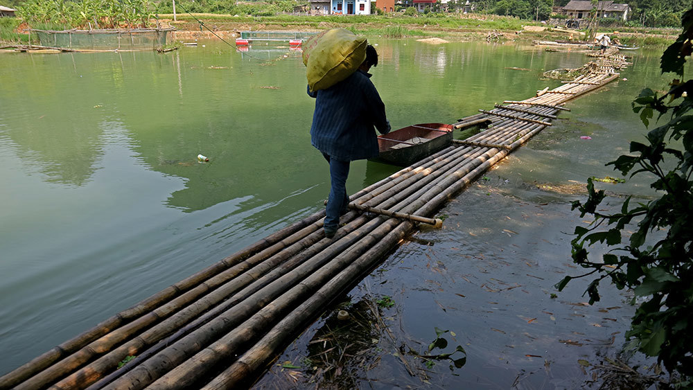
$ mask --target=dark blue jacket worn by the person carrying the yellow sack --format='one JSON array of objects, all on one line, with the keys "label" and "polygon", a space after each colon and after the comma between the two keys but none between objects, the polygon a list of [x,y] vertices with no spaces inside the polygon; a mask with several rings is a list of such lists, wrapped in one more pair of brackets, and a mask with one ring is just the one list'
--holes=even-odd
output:
[{"label": "dark blue jacket worn by the person carrying the yellow sack", "polygon": [[358,70],[328,89],[311,93],[308,88],[315,98],[310,142],[317,150],[341,161],[378,157],[374,126],[386,134],[389,123],[370,77]]}]

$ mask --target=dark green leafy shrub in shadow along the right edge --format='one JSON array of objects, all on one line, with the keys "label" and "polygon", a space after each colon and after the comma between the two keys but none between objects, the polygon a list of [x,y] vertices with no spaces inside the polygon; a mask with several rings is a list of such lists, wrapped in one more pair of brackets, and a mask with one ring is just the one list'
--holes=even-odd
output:
[{"label": "dark green leafy shrub in shadow along the right edge", "polygon": [[[590,303],[599,301],[599,283],[611,282],[619,289],[632,289],[642,303],[631,319],[626,337],[634,348],[656,356],[670,373],[683,375],[682,388],[693,385],[693,80],[683,81],[691,55],[693,8],[683,15],[683,32],[661,58],[662,73],[676,79],[663,96],[643,89],[633,101],[633,112],[649,126],[654,114],[664,123],[647,132],[645,142],[631,142],[630,154],[607,165],[622,175],[648,175],[657,197],[631,206],[624,200],[619,213],[605,214],[599,205],[606,195],[588,179],[588,199],[573,202],[581,216],[595,219],[589,228],[575,228],[572,240],[574,263],[592,269],[587,287]],[[632,229],[631,225],[636,229]],[[606,229],[604,229],[606,228]],[[629,230],[633,230],[630,233]],[[587,249],[601,242],[611,250],[592,260]],[[566,276],[559,290],[575,278]],[[635,299],[633,303],[636,303]]]}]

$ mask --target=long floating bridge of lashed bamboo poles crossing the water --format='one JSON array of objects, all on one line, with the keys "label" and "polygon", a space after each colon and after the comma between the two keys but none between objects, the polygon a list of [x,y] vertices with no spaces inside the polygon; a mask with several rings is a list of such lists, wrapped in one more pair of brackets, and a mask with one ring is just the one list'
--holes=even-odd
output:
[{"label": "long floating bridge of lashed bamboo poles crossing the water", "polygon": [[0,389],[249,387],[416,223],[435,223],[425,216],[628,62],[613,49],[591,64],[560,87],[459,120],[458,129],[491,127],[351,195],[335,238],[324,237],[324,211],[310,215],[55,346]]}]

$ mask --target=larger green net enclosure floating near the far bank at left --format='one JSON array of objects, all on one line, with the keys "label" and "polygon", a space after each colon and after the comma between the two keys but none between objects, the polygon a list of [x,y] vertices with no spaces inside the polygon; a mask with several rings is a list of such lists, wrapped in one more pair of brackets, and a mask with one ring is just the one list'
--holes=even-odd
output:
[{"label": "larger green net enclosure floating near the far bank at left", "polygon": [[75,50],[148,50],[166,44],[166,37],[175,28],[130,28],[112,30],[31,30],[41,46]]}]

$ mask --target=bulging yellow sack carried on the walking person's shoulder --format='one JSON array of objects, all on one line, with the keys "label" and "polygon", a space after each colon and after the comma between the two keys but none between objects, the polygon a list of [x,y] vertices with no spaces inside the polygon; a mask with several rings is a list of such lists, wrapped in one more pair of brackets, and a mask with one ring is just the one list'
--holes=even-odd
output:
[{"label": "bulging yellow sack carried on the walking person's shoulder", "polygon": [[310,37],[303,60],[310,91],[332,87],[349,77],[366,59],[364,37],[342,28],[333,28]]}]

